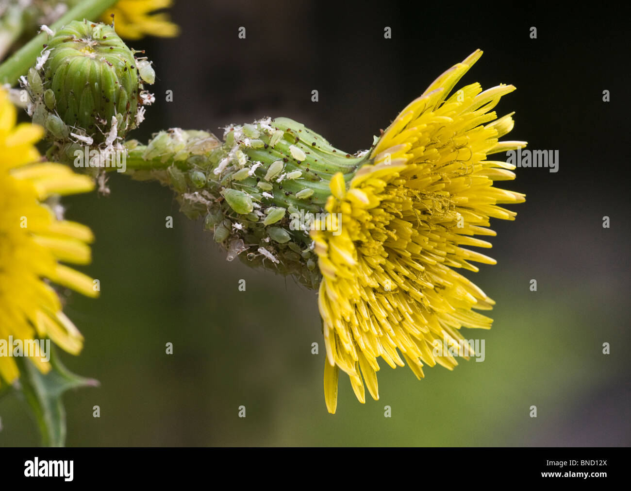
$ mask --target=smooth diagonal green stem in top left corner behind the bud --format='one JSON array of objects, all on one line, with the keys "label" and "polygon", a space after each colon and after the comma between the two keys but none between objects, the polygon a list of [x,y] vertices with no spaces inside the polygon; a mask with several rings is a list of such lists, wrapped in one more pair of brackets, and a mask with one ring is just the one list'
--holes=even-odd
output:
[{"label": "smooth diagonal green stem in top left corner behind the bud", "polygon": [[[73,20],[97,18],[116,2],[117,0],[85,0],[71,8],[50,28],[57,30]],[[35,36],[0,65],[0,83],[15,85],[20,76],[26,74],[28,69],[35,64],[47,40],[48,35],[46,33]]]}]

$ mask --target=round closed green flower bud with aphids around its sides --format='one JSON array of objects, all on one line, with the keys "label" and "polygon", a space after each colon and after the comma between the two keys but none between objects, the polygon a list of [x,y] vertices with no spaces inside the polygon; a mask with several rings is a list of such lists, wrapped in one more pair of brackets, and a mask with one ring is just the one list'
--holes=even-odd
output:
[{"label": "round closed green flower bud with aphids around its sides", "polygon": [[141,80],[155,80],[151,63],[136,59],[114,28],[83,20],[57,30],[22,84],[33,121],[44,122],[60,160],[68,160],[72,143],[103,149],[138,126],[143,104],[153,100]]}]

